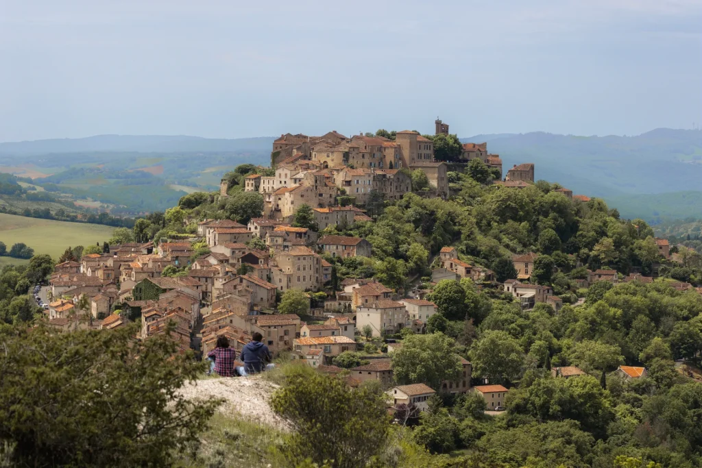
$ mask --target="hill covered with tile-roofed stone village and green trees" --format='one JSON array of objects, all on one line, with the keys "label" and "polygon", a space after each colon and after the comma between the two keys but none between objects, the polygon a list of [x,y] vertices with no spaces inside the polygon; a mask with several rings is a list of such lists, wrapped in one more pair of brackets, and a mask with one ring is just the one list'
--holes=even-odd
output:
[{"label": "hill covered with tile-roofed stone village and green trees", "polygon": [[[600,466],[619,447],[596,448],[605,433],[663,447],[678,429],[651,435],[663,416],[640,408],[660,396],[696,408],[679,392],[702,381],[701,255],[535,180],[534,164],[503,174],[486,143],[435,128],[282,135],[270,168],[237,166],[220,191],[67,248],[58,265],[32,259],[23,281],[35,297],[48,283],[37,316],[67,333],[171,337],[197,359],[218,337],[239,356],[260,334],[279,366],[376,389],[432,453],[515,431],[528,451],[553,442],[529,432],[545,424],[592,439]],[[16,309],[6,323],[26,320]],[[510,427],[495,429],[503,415]]]}]

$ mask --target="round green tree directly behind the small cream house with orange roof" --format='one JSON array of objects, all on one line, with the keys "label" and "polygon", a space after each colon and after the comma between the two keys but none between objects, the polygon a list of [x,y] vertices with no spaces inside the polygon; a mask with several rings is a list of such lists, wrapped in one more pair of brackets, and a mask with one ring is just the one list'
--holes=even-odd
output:
[{"label": "round green tree directly behind the small cream house with orange roof", "polygon": [[486,330],[470,348],[473,375],[499,383],[522,373],[524,352],[519,342],[503,330]]}]

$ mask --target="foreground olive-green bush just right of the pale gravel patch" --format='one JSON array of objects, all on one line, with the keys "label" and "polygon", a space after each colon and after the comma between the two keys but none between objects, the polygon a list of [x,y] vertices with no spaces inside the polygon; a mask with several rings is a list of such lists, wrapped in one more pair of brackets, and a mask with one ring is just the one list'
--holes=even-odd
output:
[{"label": "foreground olive-green bush just right of the pale gravel patch", "polygon": [[365,385],[354,389],[338,377],[298,371],[273,394],[271,406],[294,429],[283,448],[292,466],[311,457],[334,468],[362,467],[388,439],[383,394]]}]

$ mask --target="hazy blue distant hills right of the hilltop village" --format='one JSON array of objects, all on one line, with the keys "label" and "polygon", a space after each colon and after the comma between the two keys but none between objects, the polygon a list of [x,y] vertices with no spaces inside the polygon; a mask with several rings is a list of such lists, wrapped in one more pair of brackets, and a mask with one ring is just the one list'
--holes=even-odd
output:
[{"label": "hazy blue distant hills right of the hilltop village", "polygon": [[658,128],[633,137],[525,133],[476,135],[500,154],[505,171],[535,163],[536,178],[578,194],[618,196],[702,190],[702,131]]}]

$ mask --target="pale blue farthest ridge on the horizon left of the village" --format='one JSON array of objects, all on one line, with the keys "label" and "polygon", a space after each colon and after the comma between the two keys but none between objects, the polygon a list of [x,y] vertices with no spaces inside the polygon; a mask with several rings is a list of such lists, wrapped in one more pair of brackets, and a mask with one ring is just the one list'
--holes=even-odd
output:
[{"label": "pale blue farthest ridge on the horizon left of the village", "polygon": [[79,152],[245,152],[270,151],[274,137],[201,138],[187,135],[95,135],[0,143],[0,155],[40,155]]}]

